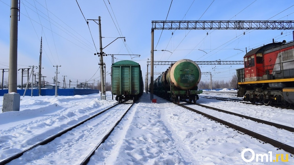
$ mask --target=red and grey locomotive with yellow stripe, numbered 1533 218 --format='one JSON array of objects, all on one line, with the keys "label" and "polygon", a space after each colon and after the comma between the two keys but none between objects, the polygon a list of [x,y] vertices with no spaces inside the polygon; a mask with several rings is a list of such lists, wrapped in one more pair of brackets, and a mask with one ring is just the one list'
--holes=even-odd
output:
[{"label": "red and grey locomotive with yellow stripe, numbered 1533 218", "polygon": [[250,50],[237,69],[238,97],[265,105],[294,104],[294,41],[273,42]]}]

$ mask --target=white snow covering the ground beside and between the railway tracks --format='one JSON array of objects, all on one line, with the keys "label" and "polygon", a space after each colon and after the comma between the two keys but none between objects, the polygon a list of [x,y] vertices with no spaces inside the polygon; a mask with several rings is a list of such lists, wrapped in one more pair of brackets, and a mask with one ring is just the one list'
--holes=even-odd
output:
[{"label": "white snow covering the ground beside and between the railway tracks", "polygon": [[[214,96],[216,94],[202,95]],[[223,95],[223,97],[227,96]],[[157,96],[154,98],[157,98],[157,103],[151,103],[150,95],[143,94],[140,102],[129,110],[111,136],[101,144],[95,155],[91,157],[89,164],[274,163],[265,162],[265,158],[261,162],[260,157],[258,162],[255,159],[245,162],[241,153],[246,148],[252,149],[255,154],[267,154],[268,156],[270,156],[268,152],[271,151],[272,159],[275,159],[276,154],[283,154],[285,159],[285,155],[288,154],[288,162],[281,162],[279,158],[274,164],[294,164],[294,159],[288,152],[276,150],[272,145],[263,144],[248,135],[241,135],[231,128],[168,103],[162,98]],[[109,92],[107,92],[106,101],[100,99],[100,94],[58,96],[57,98],[54,96],[25,96],[21,99],[20,111],[0,113],[0,161],[117,103],[111,100]],[[3,96],[0,96],[0,109],[2,109],[2,102]],[[200,98],[197,103],[294,127],[294,110],[251,106],[207,98]],[[205,109],[199,108],[199,110]],[[99,125],[89,127],[96,130],[95,127],[98,129]],[[81,135],[71,137],[71,141],[81,141],[81,138],[83,138]],[[291,143],[291,146],[294,146],[293,137],[284,138]],[[59,140],[58,147],[71,143],[70,141],[61,142]],[[54,152],[58,152],[58,147]],[[32,157],[32,154],[25,154],[11,164],[58,164],[61,156],[48,159],[47,148],[39,147],[38,152],[32,151],[38,154],[37,156]],[[88,146],[84,150],[89,148],[92,149]],[[64,159],[70,160],[73,155],[77,155],[74,152],[72,150],[72,153],[64,154]],[[83,157],[83,155],[80,156]],[[252,154],[245,152],[244,156],[250,159]],[[47,159],[43,159],[45,157]],[[68,161],[68,163],[73,162]],[[76,162],[76,164],[79,163]]]}]

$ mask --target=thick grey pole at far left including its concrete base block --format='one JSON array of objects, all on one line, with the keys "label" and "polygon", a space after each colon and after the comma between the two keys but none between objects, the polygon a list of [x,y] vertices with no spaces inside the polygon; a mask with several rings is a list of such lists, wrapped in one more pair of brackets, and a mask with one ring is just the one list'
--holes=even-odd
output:
[{"label": "thick grey pole at far left including its concrete base block", "polygon": [[[10,8],[10,51],[9,51],[9,76],[8,94],[3,96],[2,112],[19,111],[20,95],[17,93],[17,26],[19,3],[11,0]],[[13,93],[14,92],[14,93]],[[11,93],[11,94],[10,94]]]}]

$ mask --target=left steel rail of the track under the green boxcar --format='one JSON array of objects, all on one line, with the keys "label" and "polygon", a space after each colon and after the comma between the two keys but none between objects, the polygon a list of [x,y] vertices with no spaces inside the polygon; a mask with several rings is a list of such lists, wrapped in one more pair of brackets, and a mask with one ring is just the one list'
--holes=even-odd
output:
[{"label": "left steel rail of the track under the green boxcar", "polygon": [[33,145],[33,146],[31,146],[31,147],[25,149],[24,151],[19,152],[18,154],[15,154],[15,155],[13,155],[13,156],[11,156],[11,157],[9,157],[9,158],[7,158],[7,159],[1,161],[1,162],[0,162],[0,165],[7,164],[7,163],[9,163],[9,162],[12,161],[12,160],[21,157],[25,152],[29,151],[30,149],[33,149],[33,148],[37,147],[38,145],[44,145],[44,144],[47,144],[47,143],[51,142],[51,141],[54,140],[56,137],[60,137],[60,136],[63,135],[64,133],[66,133],[66,132],[68,132],[68,131],[70,131],[70,130],[72,130],[72,129],[74,129],[74,128],[80,126],[80,125],[82,125],[82,124],[85,123],[86,121],[91,120],[92,118],[94,118],[94,117],[100,115],[101,113],[105,112],[106,110],[109,110],[109,109],[111,109],[111,108],[117,106],[118,104],[120,104],[120,103],[117,103],[117,104],[115,104],[115,105],[113,105],[113,106],[111,106],[111,107],[109,107],[109,108],[107,108],[107,109],[105,109],[105,110],[103,110],[103,111],[101,111],[101,112],[99,112],[99,113],[97,113],[97,114],[91,116],[90,118],[87,118],[87,119],[81,121],[80,123],[78,123],[78,124],[76,124],[76,125],[74,125],[74,126],[72,126],[72,127],[69,127],[69,128],[67,128],[66,130],[63,130],[63,131],[57,133],[56,135],[53,135],[53,136],[51,136],[51,137],[49,137],[49,138],[47,138],[47,139],[45,139],[45,140],[39,142],[38,144],[35,144],[35,145]]}]

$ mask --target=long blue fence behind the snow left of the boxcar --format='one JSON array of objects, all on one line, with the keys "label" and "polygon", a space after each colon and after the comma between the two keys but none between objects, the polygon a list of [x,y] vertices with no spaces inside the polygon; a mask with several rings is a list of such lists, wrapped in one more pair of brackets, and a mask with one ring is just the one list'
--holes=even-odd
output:
[{"label": "long blue fence behind the snow left of the boxcar", "polygon": [[[5,93],[8,93],[8,89],[0,90],[0,96],[4,96]],[[17,93],[21,96],[24,95],[24,89],[18,89]],[[74,96],[74,95],[87,95],[92,93],[99,93],[99,90],[93,89],[58,89],[58,96]],[[41,89],[42,96],[54,96],[55,89]],[[31,89],[26,90],[25,96],[31,96]],[[39,89],[33,89],[33,96],[39,96]]]}]

